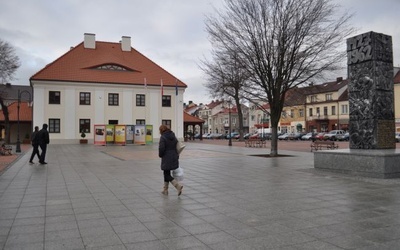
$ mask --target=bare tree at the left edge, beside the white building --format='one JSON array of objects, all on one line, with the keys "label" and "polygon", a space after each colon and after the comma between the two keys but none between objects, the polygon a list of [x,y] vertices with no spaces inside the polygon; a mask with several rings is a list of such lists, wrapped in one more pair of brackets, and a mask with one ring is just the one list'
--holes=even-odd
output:
[{"label": "bare tree at the left edge, beside the white building", "polygon": [[[15,54],[14,48],[7,42],[0,39],[0,79],[1,83],[6,83],[8,80],[14,79],[15,71],[19,68],[19,58]],[[8,107],[5,103],[4,91],[0,91],[0,105],[2,107],[4,115],[4,127],[5,127],[5,140],[6,143],[10,143],[10,123]]]}]

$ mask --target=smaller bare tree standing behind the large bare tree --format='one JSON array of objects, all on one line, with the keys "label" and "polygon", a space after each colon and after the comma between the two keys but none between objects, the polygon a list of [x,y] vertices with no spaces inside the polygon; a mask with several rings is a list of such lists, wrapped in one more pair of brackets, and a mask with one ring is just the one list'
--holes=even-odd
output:
[{"label": "smaller bare tree standing behind the large bare tree", "polygon": [[213,61],[202,61],[200,68],[207,75],[205,87],[213,97],[232,98],[238,112],[240,140],[243,140],[244,125],[242,111],[242,90],[249,79],[248,71],[240,65],[236,53],[214,50]]}]

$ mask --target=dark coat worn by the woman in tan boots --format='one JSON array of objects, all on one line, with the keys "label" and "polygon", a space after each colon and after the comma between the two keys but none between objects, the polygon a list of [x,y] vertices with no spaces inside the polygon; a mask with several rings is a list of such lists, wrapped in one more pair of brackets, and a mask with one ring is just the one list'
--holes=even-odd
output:
[{"label": "dark coat worn by the woman in tan boots", "polygon": [[158,156],[161,158],[162,170],[174,170],[179,167],[179,154],[176,151],[178,140],[174,132],[166,131],[160,137]]}]

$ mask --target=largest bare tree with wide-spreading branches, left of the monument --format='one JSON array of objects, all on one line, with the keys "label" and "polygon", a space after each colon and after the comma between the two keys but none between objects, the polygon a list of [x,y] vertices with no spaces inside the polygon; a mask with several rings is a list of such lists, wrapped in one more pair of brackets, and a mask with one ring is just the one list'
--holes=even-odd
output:
[{"label": "largest bare tree with wide-spreading branches, left of the monument", "polygon": [[237,53],[249,71],[249,98],[269,103],[271,156],[278,155],[277,128],[286,92],[343,65],[345,49],[338,48],[354,30],[349,27],[351,15],[339,15],[339,6],[331,2],[225,0],[225,9],[206,19],[213,46]]}]

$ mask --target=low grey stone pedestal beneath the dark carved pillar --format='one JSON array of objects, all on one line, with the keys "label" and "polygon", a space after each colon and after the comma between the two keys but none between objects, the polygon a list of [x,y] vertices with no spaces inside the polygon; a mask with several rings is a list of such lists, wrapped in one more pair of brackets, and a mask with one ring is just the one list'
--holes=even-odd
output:
[{"label": "low grey stone pedestal beneath the dark carved pillar", "polygon": [[315,169],[371,178],[400,177],[399,149],[340,149],[314,153]]}]

